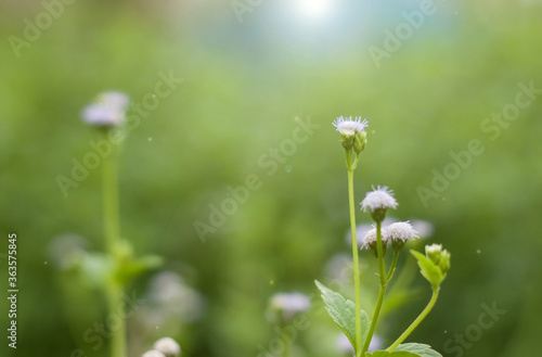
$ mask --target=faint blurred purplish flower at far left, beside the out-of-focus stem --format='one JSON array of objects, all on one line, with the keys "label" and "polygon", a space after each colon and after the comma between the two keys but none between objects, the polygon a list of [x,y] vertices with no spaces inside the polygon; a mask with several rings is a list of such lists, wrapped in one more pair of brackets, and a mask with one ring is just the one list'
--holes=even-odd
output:
[{"label": "faint blurred purplish flower at far left, beside the out-of-focus stem", "polygon": [[67,270],[78,263],[88,247],[87,240],[80,235],[66,233],[55,237],[49,243],[48,255],[61,270]]}]

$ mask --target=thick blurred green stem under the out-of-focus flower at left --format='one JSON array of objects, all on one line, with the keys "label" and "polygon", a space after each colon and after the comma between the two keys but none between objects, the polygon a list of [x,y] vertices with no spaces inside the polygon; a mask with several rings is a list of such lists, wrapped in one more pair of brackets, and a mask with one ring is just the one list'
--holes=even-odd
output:
[{"label": "thick blurred green stem under the out-of-focus flower at left", "polygon": [[[116,266],[118,263],[117,250],[120,241],[120,224],[115,152],[112,152],[107,157],[103,158],[102,170],[105,247]],[[116,282],[113,277],[105,293],[108,315],[118,315],[118,311],[124,311],[122,285]],[[111,339],[111,356],[126,357],[126,322],[122,318],[119,319],[118,327],[112,329]]]}]

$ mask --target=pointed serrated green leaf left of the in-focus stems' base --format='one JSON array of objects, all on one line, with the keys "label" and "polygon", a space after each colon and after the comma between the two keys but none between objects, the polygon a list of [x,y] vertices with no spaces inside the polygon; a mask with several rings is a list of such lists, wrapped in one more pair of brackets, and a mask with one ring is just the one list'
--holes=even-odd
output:
[{"label": "pointed serrated green leaf left of the in-focus stems' base", "polygon": [[[338,327],[345,332],[348,340],[356,349],[356,304],[346,299],[337,292],[324,286],[318,280],[314,281],[318,289],[322,292],[322,299],[325,303],[325,309]],[[364,310],[361,314],[361,344],[365,341],[369,333],[369,316]]]}]

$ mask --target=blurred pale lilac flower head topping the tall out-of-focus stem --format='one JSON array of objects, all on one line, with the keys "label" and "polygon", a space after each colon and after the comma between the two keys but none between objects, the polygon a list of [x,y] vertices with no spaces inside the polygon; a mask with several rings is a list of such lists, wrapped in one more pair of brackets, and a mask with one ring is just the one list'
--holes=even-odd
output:
[{"label": "blurred pale lilac flower head topping the tall out-of-focus stem", "polygon": [[94,103],[82,112],[82,119],[98,127],[119,126],[125,122],[125,112],[130,103],[128,95],[108,91],[98,95]]}]

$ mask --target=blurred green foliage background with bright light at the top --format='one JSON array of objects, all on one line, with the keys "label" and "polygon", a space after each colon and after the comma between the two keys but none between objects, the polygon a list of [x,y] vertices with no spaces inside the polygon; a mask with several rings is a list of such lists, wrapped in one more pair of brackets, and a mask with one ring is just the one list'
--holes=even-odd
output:
[{"label": "blurred green foliage background with bright light at the top", "polygon": [[[173,330],[145,330],[142,318],[130,318],[130,356],[171,334],[184,356],[258,356],[258,345],[278,336],[266,319],[269,296],[315,295],[313,280],[326,281],[327,260],[349,252],[344,153],[331,125],[340,115],[370,123],[356,200],[371,184],[389,186],[399,201],[393,216],[433,222],[427,242],[452,252],[439,304],[410,341],[443,356],[535,354],[542,332],[540,93],[496,139],[480,125],[514,103],[518,84],[542,88],[540,0],[436,0],[435,13],[403,33],[378,64],[370,49],[384,50],[386,30],[404,27],[402,13],[420,11],[421,2],[337,0],[318,18],[293,0],[62,3],[50,23],[39,1],[0,4],[2,296],[9,232],[18,237],[20,286],[18,347],[7,346],[9,307],[0,298],[0,355],[67,357],[74,348],[108,355],[82,339],[105,318],[103,296],[60,271],[50,254],[51,242],[67,233],[85,238],[91,251],[103,248],[100,169],[66,197],[56,177],[70,177],[70,161],[92,151],[89,141],[96,138],[80,113],[96,93],[120,90],[138,103],[154,91],[159,73],[170,72],[182,84],[124,144],[121,230],[138,254],[164,256],[160,270],[181,275],[205,307],[197,319],[173,321]],[[43,29],[25,39],[39,16]],[[13,36],[25,44],[14,50]],[[268,175],[260,157],[308,118],[320,127]],[[473,139],[483,153],[424,204],[420,187],[433,190],[433,170],[442,173],[453,162],[450,152],[466,150]],[[203,242],[194,222],[208,222],[209,205],[220,205],[227,187],[251,174],[261,188]],[[369,222],[367,215],[358,221]],[[412,259],[406,255],[402,259]],[[361,259],[373,258],[364,252]],[[128,291],[147,296],[155,273]],[[428,299],[421,277],[414,285],[416,297],[382,326],[386,342]],[[506,310],[499,321],[461,355],[444,350],[454,334],[478,324],[481,304],[493,302]],[[331,319],[314,314],[309,320],[296,356],[340,356]]]}]

